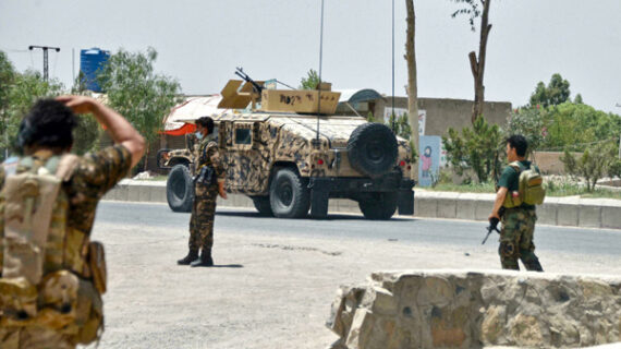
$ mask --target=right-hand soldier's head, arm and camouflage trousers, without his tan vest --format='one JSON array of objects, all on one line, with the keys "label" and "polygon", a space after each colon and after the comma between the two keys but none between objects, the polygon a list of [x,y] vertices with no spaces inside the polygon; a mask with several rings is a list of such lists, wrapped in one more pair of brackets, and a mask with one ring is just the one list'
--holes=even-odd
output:
[{"label": "right-hand soldier's head, arm and camouflage trousers, without his tan vest", "polygon": [[[507,160],[509,164],[519,161],[520,169],[531,167],[527,161],[526,148],[528,143],[522,135],[512,135],[507,139]],[[512,166],[507,166],[498,180],[498,192],[489,219],[501,219],[500,231],[500,263],[503,269],[519,270],[518,260],[528,270],[543,272],[539,260],[535,255],[535,244],[533,243],[535,232],[535,221],[537,214],[534,205],[525,203],[514,205],[513,196],[519,200],[520,173]],[[502,217],[499,217],[499,209],[504,207]]]}]

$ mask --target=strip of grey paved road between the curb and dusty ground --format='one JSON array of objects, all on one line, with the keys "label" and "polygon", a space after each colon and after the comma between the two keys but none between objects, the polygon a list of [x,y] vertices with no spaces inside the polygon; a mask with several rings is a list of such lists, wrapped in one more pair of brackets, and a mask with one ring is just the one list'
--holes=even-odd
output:
[{"label": "strip of grey paved road between the curb and dusty ground", "polygon": [[[105,202],[99,205],[98,221],[139,222],[160,228],[185,229],[190,214],[173,213],[165,204],[127,204]],[[373,221],[362,215],[330,215],[327,220],[277,219],[261,217],[255,210],[218,208],[217,228],[240,233],[321,237],[356,240],[390,240],[403,243],[450,244],[464,250],[479,248],[485,222],[397,217]],[[486,243],[496,248],[496,233]],[[621,257],[621,230],[537,226],[538,251],[575,254],[608,254]]]}]

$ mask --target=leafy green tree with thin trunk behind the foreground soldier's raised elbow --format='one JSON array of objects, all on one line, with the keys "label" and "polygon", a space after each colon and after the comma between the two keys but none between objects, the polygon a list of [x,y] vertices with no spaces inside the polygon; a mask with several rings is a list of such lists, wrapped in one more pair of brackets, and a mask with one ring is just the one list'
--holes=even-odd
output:
[{"label": "leafy green tree with thin trunk behind the foreground soldier's raised elbow", "polygon": [[147,169],[148,149],[158,140],[162,118],[180,101],[179,83],[154,72],[157,51],[143,52],[120,49],[112,55],[98,75],[108,96],[108,106],[123,115],[145,137],[147,153],[143,163]]}]

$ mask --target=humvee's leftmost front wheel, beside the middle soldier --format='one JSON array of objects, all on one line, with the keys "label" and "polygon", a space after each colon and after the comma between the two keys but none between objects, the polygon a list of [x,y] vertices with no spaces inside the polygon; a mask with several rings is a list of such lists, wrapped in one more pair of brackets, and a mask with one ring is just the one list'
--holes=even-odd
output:
[{"label": "humvee's leftmost front wheel, beside the middle soldier", "polygon": [[175,165],[168,173],[166,181],[166,198],[168,206],[174,212],[191,212],[194,201],[194,182],[190,169],[184,165]]}]

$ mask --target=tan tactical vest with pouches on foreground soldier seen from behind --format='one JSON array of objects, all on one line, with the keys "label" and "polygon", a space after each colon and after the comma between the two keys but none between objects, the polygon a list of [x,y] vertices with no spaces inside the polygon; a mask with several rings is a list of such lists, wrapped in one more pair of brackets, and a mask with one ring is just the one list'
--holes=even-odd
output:
[{"label": "tan tactical vest with pouches on foreground soldier seen from behind", "polygon": [[50,155],[21,158],[0,191],[0,327],[46,327],[88,344],[104,328],[104,249],[66,225],[62,183],[78,158]]}]

